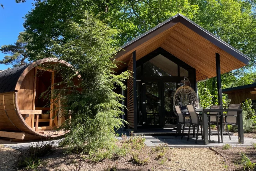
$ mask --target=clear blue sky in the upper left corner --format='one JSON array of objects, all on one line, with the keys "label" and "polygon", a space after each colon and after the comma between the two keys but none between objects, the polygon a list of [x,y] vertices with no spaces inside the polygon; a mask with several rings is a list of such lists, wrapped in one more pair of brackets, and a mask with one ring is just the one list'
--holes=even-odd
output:
[{"label": "clear blue sky in the upper left corner", "polygon": [[[0,0],[4,5],[4,9],[0,8],[0,46],[5,44],[14,44],[20,32],[24,30],[22,17],[28,13],[34,6],[34,0],[27,0],[24,3],[17,4],[15,0]],[[6,54],[0,52],[0,60]],[[0,70],[5,70],[10,66],[0,64]]]}]

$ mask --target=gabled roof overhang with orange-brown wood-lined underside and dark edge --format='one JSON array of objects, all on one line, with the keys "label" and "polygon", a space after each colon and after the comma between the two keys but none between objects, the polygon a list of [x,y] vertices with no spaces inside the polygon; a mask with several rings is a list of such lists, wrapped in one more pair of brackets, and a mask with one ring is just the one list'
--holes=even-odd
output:
[{"label": "gabled roof overhang with orange-brown wood-lined underside and dark edge", "polygon": [[221,74],[246,66],[250,61],[242,52],[182,14],[169,18],[124,44],[116,54],[116,60],[128,64],[135,50],[136,60],[139,60],[159,47],[195,68],[197,75],[200,75],[197,81],[216,76],[216,53],[220,54]]}]

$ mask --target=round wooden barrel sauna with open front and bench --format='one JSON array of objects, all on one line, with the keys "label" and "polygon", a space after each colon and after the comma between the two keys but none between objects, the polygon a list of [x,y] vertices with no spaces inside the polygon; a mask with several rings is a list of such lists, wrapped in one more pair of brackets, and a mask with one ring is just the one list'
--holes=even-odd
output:
[{"label": "round wooden barrel sauna with open front and bench", "polygon": [[[52,119],[56,115],[52,101],[40,98],[46,89],[51,86],[53,89],[58,79],[54,77],[54,70],[45,69],[43,65],[56,63],[56,59],[45,58],[0,72],[0,137],[28,140],[46,138],[49,133],[51,137],[64,135],[63,131],[53,130],[65,118]],[[39,70],[42,74],[36,74]]]}]

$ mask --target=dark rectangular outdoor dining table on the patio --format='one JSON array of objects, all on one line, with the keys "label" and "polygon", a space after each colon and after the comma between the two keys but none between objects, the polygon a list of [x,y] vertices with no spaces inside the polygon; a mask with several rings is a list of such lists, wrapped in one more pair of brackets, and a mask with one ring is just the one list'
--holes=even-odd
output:
[{"label": "dark rectangular outdoor dining table on the patio", "polygon": [[[236,121],[238,125],[238,143],[243,144],[244,143],[244,129],[243,129],[243,117],[242,117],[242,109],[196,109],[197,112],[202,112],[202,127],[203,127],[203,140],[204,144],[209,144],[209,138],[208,138],[208,116],[218,116],[220,117],[220,136],[221,136],[221,142],[223,143],[223,132],[222,132],[222,127],[223,127],[223,112],[226,111],[236,111],[237,115],[232,115],[236,116]],[[182,112],[188,112],[187,109],[182,110]],[[207,112],[218,112],[218,115],[214,114],[207,114]],[[228,115],[226,115],[228,116]]]}]

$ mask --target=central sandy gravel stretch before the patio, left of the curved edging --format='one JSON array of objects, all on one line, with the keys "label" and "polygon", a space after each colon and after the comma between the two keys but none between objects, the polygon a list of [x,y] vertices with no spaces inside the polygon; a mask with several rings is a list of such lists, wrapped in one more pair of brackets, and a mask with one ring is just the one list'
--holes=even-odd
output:
[{"label": "central sandy gravel stretch before the patio, left of the curved edging", "polygon": [[[131,155],[117,160],[104,160],[91,163],[80,155],[63,155],[61,149],[43,159],[45,163],[38,171],[104,171],[117,167],[118,171],[220,171],[224,169],[223,157],[216,155],[207,148],[169,149],[164,157],[155,159],[157,153],[152,153],[151,147],[144,147],[140,159],[149,158],[146,165],[136,165],[131,161]],[[163,164],[164,163],[164,164]]]}]

